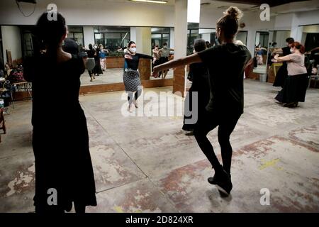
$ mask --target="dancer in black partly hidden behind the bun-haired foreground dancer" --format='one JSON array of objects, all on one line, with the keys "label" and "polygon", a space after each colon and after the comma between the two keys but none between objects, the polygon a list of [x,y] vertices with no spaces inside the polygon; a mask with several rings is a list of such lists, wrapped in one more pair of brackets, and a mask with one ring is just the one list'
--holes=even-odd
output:
[{"label": "dancer in black partly hidden behind the bun-haired foreground dancer", "polygon": [[[206,43],[203,39],[196,39],[194,41],[194,52],[200,52],[206,50]],[[194,111],[191,109],[193,104],[193,92],[197,94],[197,105],[194,107],[197,108],[197,115],[198,118],[201,118],[201,116],[205,113],[205,108],[209,101],[209,83],[208,83],[208,77],[209,72],[206,65],[204,65],[203,62],[197,62],[189,65],[189,74],[188,79],[192,82],[191,87],[189,88],[189,92],[186,94],[185,98],[185,111]],[[189,131],[189,133],[186,133],[186,135],[194,135],[194,127],[195,123],[186,123],[187,118],[194,117],[192,116],[186,116],[184,115],[184,125],[183,130]]]}]

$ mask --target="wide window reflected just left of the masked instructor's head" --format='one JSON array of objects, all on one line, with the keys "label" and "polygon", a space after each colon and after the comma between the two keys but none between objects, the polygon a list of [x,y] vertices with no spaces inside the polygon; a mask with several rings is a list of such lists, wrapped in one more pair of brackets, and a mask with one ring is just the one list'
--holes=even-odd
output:
[{"label": "wide window reflected just left of the masked instructor's head", "polygon": [[104,48],[116,51],[130,42],[130,28],[95,26],[94,40],[97,45],[102,44]]}]

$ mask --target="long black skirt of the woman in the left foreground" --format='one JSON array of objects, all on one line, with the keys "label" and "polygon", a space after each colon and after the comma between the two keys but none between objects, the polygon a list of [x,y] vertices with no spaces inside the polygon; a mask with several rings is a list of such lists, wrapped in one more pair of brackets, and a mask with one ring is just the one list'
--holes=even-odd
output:
[{"label": "long black skirt of the woman in the left foreground", "polygon": [[60,120],[52,118],[55,123],[33,127],[34,204],[35,211],[40,213],[70,211],[72,202],[96,206],[84,112],[79,107],[76,113],[65,114]]}]

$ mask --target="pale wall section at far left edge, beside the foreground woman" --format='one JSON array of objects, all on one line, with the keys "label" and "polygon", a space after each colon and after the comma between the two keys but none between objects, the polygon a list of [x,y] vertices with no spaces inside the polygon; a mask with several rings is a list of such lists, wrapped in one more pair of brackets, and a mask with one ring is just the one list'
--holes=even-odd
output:
[{"label": "pale wall section at far left edge, beside the foreground woman", "polygon": [[6,50],[11,50],[12,60],[22,57],[21,33],[18,26],[1,26],[2,45],[4,48],[4,64],[6,64]]}]

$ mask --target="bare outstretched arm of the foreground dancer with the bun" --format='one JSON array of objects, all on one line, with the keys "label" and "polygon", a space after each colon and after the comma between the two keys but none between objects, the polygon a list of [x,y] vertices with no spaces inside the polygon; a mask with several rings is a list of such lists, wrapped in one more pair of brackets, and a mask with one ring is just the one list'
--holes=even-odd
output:
[{"label": "bare outstretched arm of the foreground dancer with the bun", "polygon": [[193,55],[182,57],[176,60],[170,60],[169,62],[166,62],[162,65],[155,66],[153,69],[152,76],[158,77],[158,72],[161,72],[163,70],[172,69],[182,65],[189,65],[196,62],[202,62],[201,57],[199,57],[198,53],[194,53]]}]

